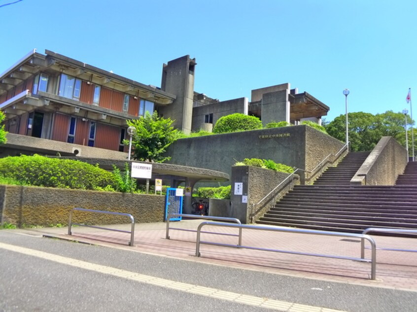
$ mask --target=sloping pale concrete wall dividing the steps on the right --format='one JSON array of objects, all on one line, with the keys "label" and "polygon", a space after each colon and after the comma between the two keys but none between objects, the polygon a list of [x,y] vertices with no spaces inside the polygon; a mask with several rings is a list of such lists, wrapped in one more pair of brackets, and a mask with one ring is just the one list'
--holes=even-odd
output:
[{"label": "sloping pale concrete wall dividing the steps on the right", "polygon": [[393,137],[384,136],[350,180],[350,184],[394,185],[406,165],[406,149]]}]

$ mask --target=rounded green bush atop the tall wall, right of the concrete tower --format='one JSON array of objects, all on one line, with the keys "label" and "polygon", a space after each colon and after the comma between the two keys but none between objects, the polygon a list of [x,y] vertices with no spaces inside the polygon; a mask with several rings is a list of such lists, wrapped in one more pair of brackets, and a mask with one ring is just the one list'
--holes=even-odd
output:
[{"label": "rounded green bush atop the tall wall, right of the concrete tower", "polygon": [[213,132],[228,133],[254,129],[262,129],[262,122],[259,118],[236,113],[219,118],[214,125]]}]

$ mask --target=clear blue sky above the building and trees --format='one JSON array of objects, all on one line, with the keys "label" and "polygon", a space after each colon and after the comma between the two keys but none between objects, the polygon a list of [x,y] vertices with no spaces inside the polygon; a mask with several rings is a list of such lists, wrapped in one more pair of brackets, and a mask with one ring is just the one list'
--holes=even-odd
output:
[{"label": "clear blue sky above the building and trees", "polygon": [[[0,5],[16,0],[0,0]],[[0,7],[0,72],[45,49],[157,87],[196,58],[195,91],[220,100],[289,82],[349,112],[417,104],[416,0],[22,0]],[[413,117],[417,117],[417,108]]]}]

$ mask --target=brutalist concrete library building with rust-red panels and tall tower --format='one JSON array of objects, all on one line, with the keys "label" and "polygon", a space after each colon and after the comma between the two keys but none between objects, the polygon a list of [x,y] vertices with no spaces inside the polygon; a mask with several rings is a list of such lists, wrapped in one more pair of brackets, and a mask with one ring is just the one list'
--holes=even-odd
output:
[{"label": "brutalist concrete library building with rust-red panels and tall tower", "polygon": [[190,133],[211,131],[220,117],[233,113],[257,116],[264,125],[298,124],[304,119],[320,124],[329,110],[290,84],[252,90],[250,101],[210,98],[194,91],[196,65],[189,56],[164,64],[159,88],[49,50],[45,54],[33,50],[0,75],[0,110],[11,134],[9,143],[0,147],[0,156],[59,152],[121,159],[127,152],[126,121],[146,111],[157,111]]}]

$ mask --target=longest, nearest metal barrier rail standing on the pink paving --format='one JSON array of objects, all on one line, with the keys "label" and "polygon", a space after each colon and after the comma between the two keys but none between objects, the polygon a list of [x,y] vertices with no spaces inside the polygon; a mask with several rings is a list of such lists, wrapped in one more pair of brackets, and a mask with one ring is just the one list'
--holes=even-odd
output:
[{"label": "longest, nearest metal barrier rail standing on the pink paving", "polygon": [[[288,251],[288,250],[274,250],[274,249],[267,249],[267,248],[257,248],[257,247],[250,247],[250,246],[242,246],[242,245],[230,245],[230,244],[221,244],[221,243],[212,243],[212,242],[204,242],[200,240],[201,236],[201,229],[203,226],[211,225],[211,226],[223,226],[223,227],[239,227],[242,229],[250,229],[250,230],[263,230],[263,231],[274,231],[274,232],[290,232],[290,233],[301,233],[301,234],[313,234],[313,235],[326,235],[326,236],[341,236],[341,237],[354,237],[360,239],[366,239],[371,243],[372,247],[372,255],[371,259],[364,259],[364,258],[352,258],[352,257],[343,257],[343,256],[336,256],[336,255],[326,255],[326,254],[316,254],[316,253],[308,253],[308,252],[298,252],[298,251]],[[316,256],[316,257],[324,257],[324,258],[335,258],[335,259],[345,259],[345,260],[353,260],[353,261],[360,261],[360,262],[371,262],[371,280],[376,279],[376,270],[377,270],[377,252],[376,252],[376,244],[375,241],[369,235],[365,234],[356,234],[356,233],[344,233],[344,232],[331,232],[331,231],[317,231],[317,230],[309,230],[309,229],[296,229],[296,228],[286,228],[286,227],[266,227],[266,226],[256,226],[256,225],[243,225],[243,224],[231,224],[231,223],[220,223],[220,222],[209,222],[205,221],[202,222],[197,229],[197,242],[196,242],[196,256],[200,257],[200,244],[206,245],[215,245],[215,246],[225,246],[225,247],[234,247],[234,248],[244,248],[244,249],[251,249],[251,250],[263,250],[263,251],[275,251],[281,253],[291,253],[291,254],[299,254],[299,255],[309,255],[309,256]]]}]

